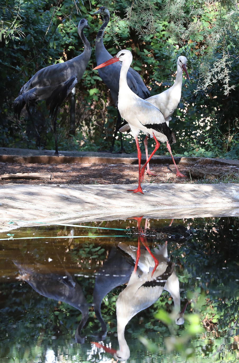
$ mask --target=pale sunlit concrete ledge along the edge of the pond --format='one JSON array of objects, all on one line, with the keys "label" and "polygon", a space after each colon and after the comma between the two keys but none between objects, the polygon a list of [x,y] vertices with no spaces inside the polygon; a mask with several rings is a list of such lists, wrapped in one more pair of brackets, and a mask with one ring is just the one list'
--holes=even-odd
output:
[{"label": "pale sunlit concrete ledge along the edge of the pond", "polygon": [[239,216],[239,184],[12,185],[0,187],[0,232],[124,219]]}]

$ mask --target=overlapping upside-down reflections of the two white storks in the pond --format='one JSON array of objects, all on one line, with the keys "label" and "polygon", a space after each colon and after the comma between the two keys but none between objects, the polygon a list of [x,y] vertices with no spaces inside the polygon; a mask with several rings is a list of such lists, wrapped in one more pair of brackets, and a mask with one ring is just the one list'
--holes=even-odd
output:
[{"label": "overlapping upside-down reflections of the two white storks in the pond", "polygon": [[[148,250],[140,249],[140,242],[148,246],[147,239],[140,228],[142,217],[135,218],[138,220],[138,248],[132,245],[119,243],[119,248],[126,252],[135,263],[135,269],[131,274],[126,288],[119,294],[116,302],[117,315],[117,338],[119,349],[116,351],[106,348],[99,343],[98,347],[103,347],[105,351],[113,354],[114,358],[122,361],[130,358],[130,348],[124,337],[124,331],[127,323],[140,311],[150,307],[161,296],[163,290],[168,291],[174,300],[175,323],[182,325],[184,323],[184,312],[187,303],[180,312],[180,288],[179,280],[174,271],[175,264],[170,261],[167,251],[167,241],[164,245],[158,245],[154,252],[148,253]],[[145,232],[145,230],[144,230]],[[158,265],[155,265],[158,260]],[[155,267],[156,268],[155,268]]]}]

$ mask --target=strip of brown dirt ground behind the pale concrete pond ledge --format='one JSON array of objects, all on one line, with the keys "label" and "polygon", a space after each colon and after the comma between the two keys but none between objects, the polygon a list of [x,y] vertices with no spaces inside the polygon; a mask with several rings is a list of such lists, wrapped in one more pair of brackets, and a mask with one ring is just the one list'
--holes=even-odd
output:
[{"label": "strip of brown dirt ground behind the pale concrete pond ledge", "polygon": [[[187,183],[198,180],[192,166],[179,165],[179,170],[186,178],[177,178],[172,164],[151,164],[152,172],[157,176],[145,175],[146,183]],[[195,166],[194,166],[195,168]],[[200,171],[212,174],[225,174],[228,167],[221,165],[200,165]],[[232,169],[231,169],[232,170]],[[136,184],[138,182],[138,165],[136,164],[21,164],[0,162],[0,175],[16,173],[50,172],[50,180],[14,179],[0,180],[0,185],[16,184]],[[191,178],[190,178],[191,174]],[[200,178],[200,175],[198,175]]]}]

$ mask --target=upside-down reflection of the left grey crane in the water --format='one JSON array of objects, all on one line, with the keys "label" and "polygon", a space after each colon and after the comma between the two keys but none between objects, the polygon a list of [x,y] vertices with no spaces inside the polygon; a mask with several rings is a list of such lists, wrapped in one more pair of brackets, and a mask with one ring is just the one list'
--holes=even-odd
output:
[{"label": "upside-down reflection of the left grey crane in the water", "polygon": [[[37,293],[56,301],[63,301],[81,311],[81,321],[75,331],[77,343],[83,344],[81,330],[88,320],[89,305],[83,291],[75,279],[63,269],[62,272],[52,272],[47,266],[38,262],[21,263],[14,260],[19,269],[19,279],[26,281]],[[55,268],[54,268],[55,270]]]}]

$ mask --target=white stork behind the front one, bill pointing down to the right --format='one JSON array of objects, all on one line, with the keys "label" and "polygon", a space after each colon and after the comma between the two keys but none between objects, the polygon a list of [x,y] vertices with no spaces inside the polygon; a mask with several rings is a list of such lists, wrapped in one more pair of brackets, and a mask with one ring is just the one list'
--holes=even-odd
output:
[{"label": "white stork behind the front one, bill pointing down to the right", "polygon": [[[177,75],[174,84],[172,87],[168,88],[167,90],[163,91],[162,93],[156,94],[149,98],[146,98],[146,101],[152,103],[155,107],[157,107],[160,111],[162,111],[164,118],[169,125],[169,122],[172,119],[172,114],[178,107],[180,102],[181,93],[182,93],[182,83],[183,83],[183,71],[186,73],[187,78],[189,79],[188,72],[187,72],[187,58],[184,56],[178,57],[177,61]],[[123,125],[120,127],[119,131],[129,131],[130,126],[128,124]],[[148,159],[148,136],[144,139],[144,146],[146,152],[146,159]],[[171,158],[176,168],[176,176],[184,178],[185,175],[180,173],[178,167],[175,163],[174,157],[172,155],[171,147],[169,142],[167,141],[167,149],[170,152]],[[147,164],[146,174],[148,175],[155,175],[150,171],[149,163]]]}]

